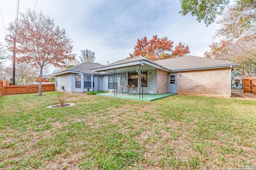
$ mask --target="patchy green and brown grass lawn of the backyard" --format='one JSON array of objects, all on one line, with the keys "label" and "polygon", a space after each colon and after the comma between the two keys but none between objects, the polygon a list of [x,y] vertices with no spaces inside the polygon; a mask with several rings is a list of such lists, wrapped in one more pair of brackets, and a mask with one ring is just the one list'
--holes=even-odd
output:
[{"label": "patchy green and brown grass lawn of the backyard", "polygon": [[256,165],[256,102],[69,94],[0,100],[2,169],[221,169]]}]

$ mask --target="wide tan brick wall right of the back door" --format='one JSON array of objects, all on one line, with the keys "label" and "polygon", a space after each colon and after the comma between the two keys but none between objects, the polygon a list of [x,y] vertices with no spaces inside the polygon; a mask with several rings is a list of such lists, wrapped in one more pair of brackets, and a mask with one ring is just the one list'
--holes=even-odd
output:
[{"label": "wide tan brick wall right of the back door", "polygon": [[229,97],[229,74],[227,68],[178,72],[177,93]]}]

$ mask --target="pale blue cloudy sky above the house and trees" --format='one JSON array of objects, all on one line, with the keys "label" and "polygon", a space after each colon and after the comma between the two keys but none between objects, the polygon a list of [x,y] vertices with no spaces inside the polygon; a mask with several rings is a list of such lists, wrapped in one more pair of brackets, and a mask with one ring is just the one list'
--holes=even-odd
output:
[{"label": "pale blue cloudy sky above the house and trees", "polygon": [[[15,20],[16,0],[0,0],[0,8],[7,27]],[[174,47],[182,42],[190,47],[190,55],[203,57],[218,28],[179,14],[180,0],[20,0],[19,11],[24,13],[28,8],[42,11],[66,29],[76,58],[80,50],[89,49],[95,51],[100,64],[129,57],[138,39],[153,35],[168,37]],[[4,38],[1,21],[0,42],[4,43]]]}]

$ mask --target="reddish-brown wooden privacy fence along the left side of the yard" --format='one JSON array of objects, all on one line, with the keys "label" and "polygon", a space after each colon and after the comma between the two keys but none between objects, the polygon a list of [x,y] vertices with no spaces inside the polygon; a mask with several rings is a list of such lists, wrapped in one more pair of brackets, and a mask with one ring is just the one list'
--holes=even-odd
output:
[{"label": "reddish-brown wooden privacy fence along the left side of the yard", "polygon": [[[4,95],[38,93],[38,85],[4,86]],[[55,91],[55,84],[42,84],[42,92]]]}]

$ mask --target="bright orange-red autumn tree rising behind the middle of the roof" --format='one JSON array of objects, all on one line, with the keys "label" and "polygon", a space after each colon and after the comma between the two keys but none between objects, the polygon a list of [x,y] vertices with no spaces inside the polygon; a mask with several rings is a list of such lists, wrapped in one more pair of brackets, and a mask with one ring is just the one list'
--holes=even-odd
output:
[{"label": "bright orange-red autumn tree rising behind the middle of the roof", "polygon": [[142,38],[141,40],[138,39],[137,45],[134,47],[133,54],[130,54],[132,58],[135,56],[142,56],[150,60],[158,60],[158,59],[167,59],[171,57],[183,56],[188,53],[189,47],[182,45],[179,43],[178,46],[175,47],[175,50],[172,50],[173,41],[168,40],[167,37],[158,38],[157,35],[153,36],[153,39],[148,41],[147,37]]}]

